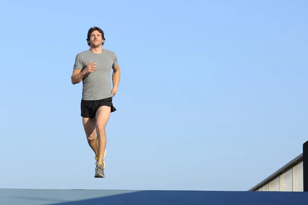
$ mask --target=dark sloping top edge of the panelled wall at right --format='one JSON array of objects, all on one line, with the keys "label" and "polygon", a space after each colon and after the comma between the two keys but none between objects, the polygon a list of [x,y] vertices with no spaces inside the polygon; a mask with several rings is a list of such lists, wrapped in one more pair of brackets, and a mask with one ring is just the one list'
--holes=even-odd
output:
[{"label": "dark sloping top edge of the panelled wall at right", "polygon": [[260,189],[261,187],[263,187],[264,185],[266,185],[266,183],[274,180],[275,178],[277,178],[278,176],[280,176],[281,174],[285,173],[286,171],[290,170],[291,168],[293,168],[294,166],[298,165],[298,163],[300,163],[303,160],[303,153],[301,153],[300,155],[298,155],[296,158],[294,158],[293,160],[291,160],[290,162],[288,162],[285,166],[283,166],[282,168],[280,168],[279,170],[277,170],[275,173],[273,173],[271,176],[267,177],[266,179],[264,179],[263,181],[261,181],[260,183],[258,183],[258,185],[256,185],[255,187],[253,187],[252,189],[249,189],[248,191],[257,191],[258,189]]}]

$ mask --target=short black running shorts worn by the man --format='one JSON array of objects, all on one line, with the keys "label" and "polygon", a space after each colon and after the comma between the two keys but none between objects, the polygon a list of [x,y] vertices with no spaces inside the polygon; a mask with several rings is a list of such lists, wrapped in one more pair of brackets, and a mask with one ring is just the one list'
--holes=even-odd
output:
[{"label": "short black running shorts worn by the man", "polygon": [[99,100],[81,100],[80,109],[81,109],[81,116],[87,118],[95,117],[97,110],[101,106],[108,106],[111,109],[111,112],[116,111],[112,105],[112,97],[108,97],[105,99]]}]

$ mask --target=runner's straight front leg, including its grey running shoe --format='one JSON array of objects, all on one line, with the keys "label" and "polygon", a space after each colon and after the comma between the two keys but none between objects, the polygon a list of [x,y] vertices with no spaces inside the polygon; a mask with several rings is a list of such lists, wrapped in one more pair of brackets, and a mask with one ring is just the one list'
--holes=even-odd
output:
[{"label": "runner's straight front leg, including its grey running shoe", "polygon": [[103,166],[103,159],[107,142],[105,128],[109,120],[110,113],[111,113],[110,107],[101,106],[95,114],[95,117],[97,119],[96,132],[97,132],[97,142],[98,142],[97,143],[98,162],[94,177],[105,177],[104,166]]}]

